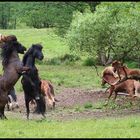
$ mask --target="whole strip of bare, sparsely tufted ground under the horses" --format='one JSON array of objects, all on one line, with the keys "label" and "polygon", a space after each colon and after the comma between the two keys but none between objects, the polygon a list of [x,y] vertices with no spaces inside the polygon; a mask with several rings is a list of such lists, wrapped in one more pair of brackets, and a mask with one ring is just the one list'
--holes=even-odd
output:
[{"label": "whole strip of bare, sparsely tufted ground under the horses", "polygon": [[[140,115],[139,99],[136,99],[133,105],[130,105],[130,100],[124,95],[119,95],[115,104],[104,105],[107,100],[108,94],[104,93],[103,89],[81,89],[81,88],[64,88],[58,87],[56,89],[56,102],[55,110],[46,111],[46,119],[48,120],[71,120],[79,118],[97,119],[103,117],[123,117],[128,115]],[[6,111],[5,114],[8,118],[21,118],[26,119],[26,108],[24,102],[24,94],[17,94],[19,108],[12,111]],[[92,104],[93,106],[87,108],[86,105]],[[97,106],[99,104],[99,106]],[[114,107],[119,106],[119,108]],[[34,107],[30,105],[31,120],[38,120],[42,115],[34,114]]]}]

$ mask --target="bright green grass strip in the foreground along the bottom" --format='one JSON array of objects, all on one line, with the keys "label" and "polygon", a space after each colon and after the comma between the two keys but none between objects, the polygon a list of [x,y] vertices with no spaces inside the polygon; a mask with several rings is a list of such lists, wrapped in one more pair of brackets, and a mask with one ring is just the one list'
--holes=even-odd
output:
[{"label": "bright green grass strip in the foreground along the bottom", "polygon": [[140,118],[0,121],[1,138],[139,138]]}]

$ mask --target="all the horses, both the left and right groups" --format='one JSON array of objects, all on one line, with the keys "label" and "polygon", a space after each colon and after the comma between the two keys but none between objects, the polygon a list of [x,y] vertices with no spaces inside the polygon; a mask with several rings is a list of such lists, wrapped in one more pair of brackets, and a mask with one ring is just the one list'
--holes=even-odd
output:
[{"label": "all the horses, both the left and right groups", "polygon": [[[43,60],[43,46],[33,44],[26,51],[26,48],[17,40],[15,35],[1,38],[1,41],[3,74],[0,77],[0,118],[7,119],[4,110],[9,100],[8,93],[21,76],[27,119],[29,119],[30,102],[36,104],[35,112],[45,117],[45,97],[47,98],[47,104],[50,104],[53,108],[55,107],[55,101],[58,100],[55,98],[52,84],[39,77],[38,69],[35,65],[36,59]],[[24,54],[22,61],[19,58],[19,54]],[[102,73],[102,85],[106,83],[110,85],[108,99],[110,99],[113,92],[115,92],[114,100],[118,92],[127,92],[127,95],[132,99],[140,97],[140,82],[128,77],[138,75],[140,75],[139,70],[129,69],[117,60],[112,63],[112,66],[106,67]]]}]

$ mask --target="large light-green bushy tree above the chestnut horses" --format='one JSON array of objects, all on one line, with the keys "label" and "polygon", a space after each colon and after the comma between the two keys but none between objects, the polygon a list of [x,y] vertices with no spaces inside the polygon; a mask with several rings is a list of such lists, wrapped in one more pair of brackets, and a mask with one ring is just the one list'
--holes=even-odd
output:
[{"label": "large light-green bushy tree above the chestnut horses", "polygon": [[139,12],[139,3],[102,2],[94,13],[74,13],[67,33],[70,49],[88,52],[103,65],[138,58]]}]

